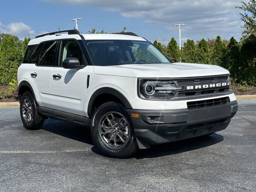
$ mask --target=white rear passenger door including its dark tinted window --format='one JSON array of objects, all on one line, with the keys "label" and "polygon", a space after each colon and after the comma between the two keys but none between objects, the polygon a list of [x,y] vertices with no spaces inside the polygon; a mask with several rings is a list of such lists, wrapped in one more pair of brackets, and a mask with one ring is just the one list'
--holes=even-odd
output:
[{"label": "white rear passenger door including its dark tinted window", "polygon": [[30,83],[39,106],[52,108],[51,70],[56,66],[58,41],[48,41],[39,44],[39,48],[30,58],[34,66],[30,68]]}]

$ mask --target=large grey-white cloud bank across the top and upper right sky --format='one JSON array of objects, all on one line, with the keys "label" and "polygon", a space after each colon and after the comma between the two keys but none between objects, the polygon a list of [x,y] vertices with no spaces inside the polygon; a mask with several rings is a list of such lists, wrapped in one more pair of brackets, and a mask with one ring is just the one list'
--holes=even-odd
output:
[{"label": "large grey-white cloud bank across the top and upper right sky", "polygon": [[235,6],[240,0],[45,0],[61,4],[80,4],[105,11],[117,11],[124,17],[142,18],[147,23],[162,24],[176,32],[176,23],[186,36],[207,33],[208,37],[240,34],[242,22]]}]

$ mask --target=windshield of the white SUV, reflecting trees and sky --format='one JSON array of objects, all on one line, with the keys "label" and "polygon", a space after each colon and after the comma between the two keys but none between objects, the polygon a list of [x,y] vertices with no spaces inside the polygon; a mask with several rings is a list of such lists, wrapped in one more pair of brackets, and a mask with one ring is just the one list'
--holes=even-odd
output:
[{"label": "windshield of the white SUV, reflecting trees and sky", "polygon": [[133,40],[84,40],[92,62],[97,66],[170,63],[154,45]]}]

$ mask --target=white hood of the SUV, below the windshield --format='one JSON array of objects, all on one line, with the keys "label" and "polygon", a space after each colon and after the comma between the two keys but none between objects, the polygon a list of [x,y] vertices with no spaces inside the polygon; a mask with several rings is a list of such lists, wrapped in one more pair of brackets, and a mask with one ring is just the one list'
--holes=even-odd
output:
[{"label": "white hood of the SUV, below the windshield", "polygon": [[216,65],[192,63],[126,64],[118,66],[94,66],[96,74],[135,78],[182,78],[229,74]]}]

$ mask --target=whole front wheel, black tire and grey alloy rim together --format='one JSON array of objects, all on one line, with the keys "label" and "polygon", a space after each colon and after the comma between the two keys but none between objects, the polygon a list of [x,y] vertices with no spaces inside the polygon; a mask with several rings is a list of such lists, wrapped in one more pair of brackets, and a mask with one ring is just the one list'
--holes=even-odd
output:
[{"label": "whole front wheel, black tire and grey alloy rim together", "polygon": [[91,134],[95,146],[105,156],[127,158],[138,151],[132,121],[126,108],[119,103],[104,103],[94,112]]}]

